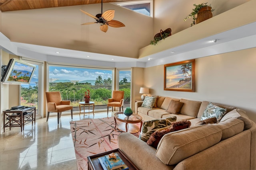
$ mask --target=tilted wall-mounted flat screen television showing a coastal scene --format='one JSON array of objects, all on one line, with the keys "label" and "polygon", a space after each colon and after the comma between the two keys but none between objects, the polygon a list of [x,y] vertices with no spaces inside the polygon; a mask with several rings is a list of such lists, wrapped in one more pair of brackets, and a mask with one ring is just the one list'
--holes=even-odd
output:
[{"label": "tilted wall-mounted flat screen television showing a coastal scene", "polygon": [[10,59],[8,65],[3,71],[1,82],[3,84],[29,84],[36,66],[20,61]]}]

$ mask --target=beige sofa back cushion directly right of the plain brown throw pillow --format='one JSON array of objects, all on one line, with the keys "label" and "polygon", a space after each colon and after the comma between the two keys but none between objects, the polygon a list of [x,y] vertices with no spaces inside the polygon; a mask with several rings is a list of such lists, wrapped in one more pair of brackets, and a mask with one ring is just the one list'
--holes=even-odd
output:
[{"label": "beige sofa back cushion directly right of the plain brown throw pillow", "polygon": [[180,102],[184,103],[180,109],[180,114],[196,117],[202,102],[181,99]]}]

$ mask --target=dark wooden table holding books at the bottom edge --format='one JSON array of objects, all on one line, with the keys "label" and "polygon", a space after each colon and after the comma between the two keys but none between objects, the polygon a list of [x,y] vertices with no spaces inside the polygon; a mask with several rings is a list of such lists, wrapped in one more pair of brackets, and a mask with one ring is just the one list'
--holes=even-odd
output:
[{"label": "dark wooden table holding books at the bottom edge", "polygon": [[129,170],[139,170],[139,168],[136,167],[132,163],[132,161],[120,150],[120,149],[114,149],[107,152],[103,152],[100,154],[95,154],[92,156],[88,156],[88,170],[103,170],[102,166],[100,165],[100,161],[98,160],[99,157],[110,154],[110,153],[117,153],[120,158],[124,161],[124,163],[128,166]]}]

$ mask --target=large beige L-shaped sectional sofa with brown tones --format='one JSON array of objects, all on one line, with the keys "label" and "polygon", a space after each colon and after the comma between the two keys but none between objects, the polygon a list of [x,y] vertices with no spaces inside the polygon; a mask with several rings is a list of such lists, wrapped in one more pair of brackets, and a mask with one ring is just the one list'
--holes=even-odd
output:
[{"label": "large beige L-shaped sectional sofa with brown tones", "polygon": [[141,107],[136,113],[144,121],[176,116],[176,121],[188,119],[191,127],[168,133],[157,148],[151,147],[130,133],[118,136],[120,150],[140,170],[195,169],[256,169],[256,124],[242,109],[224,106],[227,112],[215,124],[196,125],[209,102],[180,99],[183,106],[178,114],[166,112],[171,100],[159,97],[156,108]]}]

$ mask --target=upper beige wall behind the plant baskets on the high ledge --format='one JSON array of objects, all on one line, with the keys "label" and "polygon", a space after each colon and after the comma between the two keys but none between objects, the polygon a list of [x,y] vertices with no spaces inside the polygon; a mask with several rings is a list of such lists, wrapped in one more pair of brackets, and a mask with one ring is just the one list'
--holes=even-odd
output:
[{"label": "upper beige wall behind the plant baskets on the high ledge", "polygon": [[[248,1],[250,0],[207,0],[205,2],[215,9],[212,15],[216,16]],[[154,0],[154,34],[166,28],[171,28],[172,34],[175,34],[190,27],[192,18],[183,21],[184,18],[192,12],[193,4],[203,2],[202,0]]]}]

